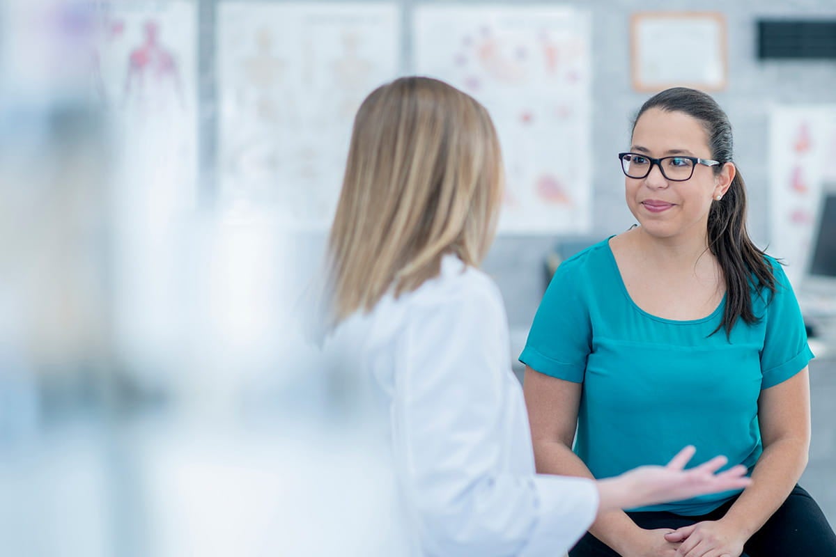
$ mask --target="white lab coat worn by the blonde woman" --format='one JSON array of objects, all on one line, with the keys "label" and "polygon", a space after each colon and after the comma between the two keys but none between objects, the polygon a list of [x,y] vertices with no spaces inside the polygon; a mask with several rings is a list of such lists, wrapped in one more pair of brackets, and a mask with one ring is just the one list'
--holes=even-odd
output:
[{"label": "white lab coat worn by the blonde woman", "polygon": [[350,331],[389,423],[412,554],[491,557],[569,549],[594,520],[589,479],[534,472],[502,297],[455,256],[414,292],[385,296]]}]

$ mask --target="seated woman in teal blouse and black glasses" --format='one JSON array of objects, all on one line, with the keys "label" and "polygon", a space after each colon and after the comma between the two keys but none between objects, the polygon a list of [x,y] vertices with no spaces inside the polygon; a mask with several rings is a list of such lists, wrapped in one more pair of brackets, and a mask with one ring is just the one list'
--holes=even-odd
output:
[{"label": "seated woman in teal blouse and black glasses", "polygon": [[685,438],[752,485],[603,514],[570,555],[836,555],[796,484],[813,353],[787,276],[747,235],[726,114],[663,91],[619,159],[640,225],[558,267],[520,356],[538,472],[612,476]]}]

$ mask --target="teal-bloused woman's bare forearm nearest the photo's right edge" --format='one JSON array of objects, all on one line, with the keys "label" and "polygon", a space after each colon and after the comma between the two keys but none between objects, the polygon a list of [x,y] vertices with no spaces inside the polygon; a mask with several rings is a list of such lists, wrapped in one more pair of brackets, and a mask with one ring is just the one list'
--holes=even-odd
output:
[{"label": "teal-bloused woman's bare forearm nearest the photo's right edge", "polygon": [[808,443],[786,438],[764,448],[752,471],[749,486],[726,512],[723,521],[734,524],[747,539],[761,529],[781,506],[807,466]]}]

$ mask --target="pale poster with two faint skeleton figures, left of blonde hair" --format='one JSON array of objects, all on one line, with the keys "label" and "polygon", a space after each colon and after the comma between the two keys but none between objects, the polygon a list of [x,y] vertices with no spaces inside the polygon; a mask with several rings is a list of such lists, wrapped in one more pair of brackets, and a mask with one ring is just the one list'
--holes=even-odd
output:
[{"label": "pale poster with two faint skeleton figures, left of blonde hair", "polygon": [[400,66],[400,15],[381,3],[218,8],[222,203],[328,228],[359,104]]}]

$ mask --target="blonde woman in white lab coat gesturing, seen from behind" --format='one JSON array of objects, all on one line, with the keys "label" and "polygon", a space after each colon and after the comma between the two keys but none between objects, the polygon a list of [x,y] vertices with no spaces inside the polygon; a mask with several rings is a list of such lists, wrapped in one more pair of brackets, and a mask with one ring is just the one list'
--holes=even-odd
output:
[{"label": "blonde woman in white lab coat gesturing, seen from behind", "polygon": [[612,479],[534,472],[502,298],[479,270],[502,180],[487,111],[441,81],[385,84],[354,120],[329,325],[361,332],[415,554],[559,555],[607,509],[745,487],[745,468],[716,473],[724,457],[685,470],[691,447]]}]

